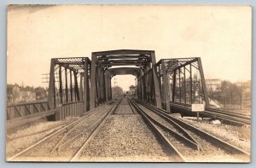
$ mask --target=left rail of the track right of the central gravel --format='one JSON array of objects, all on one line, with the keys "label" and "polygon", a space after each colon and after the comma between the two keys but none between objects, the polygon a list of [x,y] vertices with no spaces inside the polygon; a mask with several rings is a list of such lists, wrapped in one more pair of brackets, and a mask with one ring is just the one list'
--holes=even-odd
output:
[{"label": "left rail of the track right of the central gravel", "polygon": [[168,138],[164,135],[162,130],[160,130],[154,122],[148,118],[148,115],[143,112],[143,110],[137,106],[136,103],[131,101],[131,104],[137,109],[137,112],[140,113],[143,116],[143,119],[145,122],[154,130],[154,132],[158,135],[158,138],[160,138],[160,141],[164,142],[166,148],[169,149],[170,153],[172,151],[172,156],[174,157],[175,161],[177,162],[185,162],[186,159],[183,157],[183,154],[180,154],[180,152],[177,150],[177,148],[174,147],[172,142],[168,140]]}]

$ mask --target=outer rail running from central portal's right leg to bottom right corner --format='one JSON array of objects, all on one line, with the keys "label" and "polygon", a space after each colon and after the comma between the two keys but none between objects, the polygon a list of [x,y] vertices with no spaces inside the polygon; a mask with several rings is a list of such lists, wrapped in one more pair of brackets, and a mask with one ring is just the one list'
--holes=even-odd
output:
[{"label": "outer rail running from central portal's right leg to bottom right corner", "polygon": [[154,107],[153,105],[150,105],[145,102],[143,102],[143,105],[145,105],[145,107],[148,107],[148,109],[153,109],[155,111],[162,113],[169,119],[173,119],[178,125],[181,125],[183,128],[194,132],[198,136],[201,136],[201,138],[206,139],[208,142],[211,142],[212,145],[214,145],[218,148],[222,148],[225,151],[230,152],[231,154],[241,154],[241,156],[250,157],[250,154],[245,152],[241,148],[237,148],[236,146],[230,144],[229,142],[224,142],[224,140],[222,140],[216,136],[212,136],[210,133],[208,133],[204,130],[198,129],[193,125],[189,125],[188,123],[184,122],[182,119],[177,119],[177,118],[173,117],[172,114],[167,113],[163,109]]}]

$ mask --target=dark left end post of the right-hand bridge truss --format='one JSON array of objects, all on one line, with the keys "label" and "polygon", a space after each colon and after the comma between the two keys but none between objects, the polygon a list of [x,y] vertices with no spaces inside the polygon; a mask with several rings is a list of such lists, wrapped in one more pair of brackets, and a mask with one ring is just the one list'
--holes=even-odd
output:
[{"label": "dark left end post of the right-hand bridge truss", "polygon": [[161,67],[162,67],[162,72],[163,72],[163,84],[164,87],[162,88],[162,90],[164,90],[164,96],[165,96],[165,101],[166,101],[166,111],[171,113],[171,108],[170,108],[170,93],[169,93],[169,84],[167,82],[167,74],[166,74],[166,65],[165,65],[165,61],[161,60]]}]

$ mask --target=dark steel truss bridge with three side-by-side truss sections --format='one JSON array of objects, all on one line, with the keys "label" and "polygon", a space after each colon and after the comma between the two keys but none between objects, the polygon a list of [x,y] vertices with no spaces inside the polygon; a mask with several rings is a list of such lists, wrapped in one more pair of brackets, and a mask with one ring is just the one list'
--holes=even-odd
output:
[{"label": "dark steel truss bridge with three side-by-side truss sections", "polygon": [[156,62],[154,50],[120,49],[93,52],[91,61],[88,57],[52,59],[49,108],[82,101],[81,109],[93,109],[112,99],[111,79],[123,74],[137,78],[137,97],[140,100],[170,113],[171,102],[205,102],[209,107],[201,58]]}]

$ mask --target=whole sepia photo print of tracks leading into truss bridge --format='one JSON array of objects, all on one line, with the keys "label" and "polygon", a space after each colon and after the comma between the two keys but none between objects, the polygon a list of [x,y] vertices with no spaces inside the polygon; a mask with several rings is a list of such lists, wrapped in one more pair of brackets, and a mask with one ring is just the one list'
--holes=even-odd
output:
[{"label": "whole sepia photo print of tracks leading into truss bridge", "polygon": [[9,4],[6,161],[251,162],[252,7]]}]

